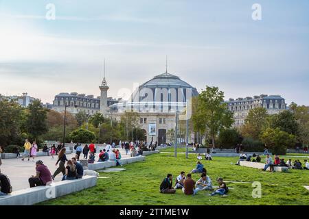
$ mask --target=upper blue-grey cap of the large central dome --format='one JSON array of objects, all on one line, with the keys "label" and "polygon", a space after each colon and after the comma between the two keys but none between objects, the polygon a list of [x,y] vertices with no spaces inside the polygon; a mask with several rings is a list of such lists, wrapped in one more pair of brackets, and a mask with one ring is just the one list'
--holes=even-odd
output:
[{"label": "upper blue-grey cap of the large central dome", "polygon": [[191,88],[194,96],[198,94],[196,88],[190,86],[189,83],[181,80],[178,76],[170,73],[163,73],[153,77],[139,86],[139,89],[141,88]]}]

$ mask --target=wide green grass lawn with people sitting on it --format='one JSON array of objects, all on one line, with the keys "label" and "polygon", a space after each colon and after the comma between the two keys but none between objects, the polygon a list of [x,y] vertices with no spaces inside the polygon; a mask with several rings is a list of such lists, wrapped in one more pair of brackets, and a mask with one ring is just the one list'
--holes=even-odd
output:
[{"label": "wide green grass lawn with people sitting on it", "polygon": [[[288,158],[288,157],[285,157]],[[293,158],[292,158],[293,159]],[[303,161],[304,159],[301,159]],[[122,172],[101,172],[98,185],[88,190],[76,192],[43,205],[309,205],[309,191],[301,185],[309,185],[308,170],[283,172],[262,172],[255,168],[234,165],[236,157],[214,157],[202,161],[213,180],[223,177],[225,181],[260,181],[262,198],[252,198],[251,184],[227,183],[226,197],[208,196],[209,192],[199,192],[196,196],[185,196],[181,190],[176,194],[159,193],[159,185],[170,172],[176,177],[181,170],[189,172],[196,163],[196,156],[185,159],[173,154],[155,154],[146,157],[145,162],[124,166]],[[233,163],[233,164],[231,164]],[[197,180],[199,175],[194,175]]]}]

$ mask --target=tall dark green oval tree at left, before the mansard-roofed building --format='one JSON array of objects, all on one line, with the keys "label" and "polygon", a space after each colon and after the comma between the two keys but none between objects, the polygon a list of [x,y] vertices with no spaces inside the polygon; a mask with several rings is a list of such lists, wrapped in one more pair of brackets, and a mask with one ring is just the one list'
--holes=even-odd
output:
[{"label": "tall dark green oval tree at left, before the mansard-roofed building", "polygon": [[35,100],[28,105],[26,129],[33,140],[47,132],[47,109],[42,106],[41,101]]}]

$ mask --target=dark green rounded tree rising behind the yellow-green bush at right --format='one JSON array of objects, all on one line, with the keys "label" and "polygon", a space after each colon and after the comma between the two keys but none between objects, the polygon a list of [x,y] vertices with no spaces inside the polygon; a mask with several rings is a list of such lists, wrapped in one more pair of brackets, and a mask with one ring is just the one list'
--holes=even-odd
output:
[{"label": "dark green rounded tree rising behind the yellow-green bush at right", "polygon": [[271,117],[270,127],[273,129],[279,128],[280,130],[293,135],[297,135],[299,131],[295,115],[288,110],[273,115]]}]

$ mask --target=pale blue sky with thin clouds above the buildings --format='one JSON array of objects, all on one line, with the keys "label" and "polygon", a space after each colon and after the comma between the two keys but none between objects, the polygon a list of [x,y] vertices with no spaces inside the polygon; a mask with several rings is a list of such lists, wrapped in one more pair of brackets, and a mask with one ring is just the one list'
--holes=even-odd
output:
[{"label": "pale blue sky with thin clouds above the buildings", "polygon": [[105,58],[108,96],[118,98],[164,73],[168,55],[168,73],[198,92],[309,105],[308,9],[308,0],[0,0],[0,94],[99,96]]}]

